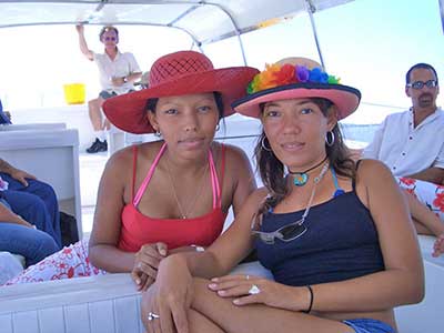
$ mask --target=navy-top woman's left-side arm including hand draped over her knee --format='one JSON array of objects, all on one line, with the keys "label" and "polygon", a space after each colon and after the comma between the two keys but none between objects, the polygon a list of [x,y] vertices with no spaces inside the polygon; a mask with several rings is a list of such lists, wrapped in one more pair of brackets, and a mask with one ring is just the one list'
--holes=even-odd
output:
[{"label": "navy-top woman's left-side arm including hand draped over her knee", "polygon": [[264,190],[253,192],[229,230],[204,252],[178,253],[161,261],[155,283],[142,296],[145,325],[148,314],[155,313],[163,332],[173,332],[173,326],[178,332],[189,332],[186,309],[193,297],[192,275],[225,274],[250,252],[251,221],[265,195]]}]

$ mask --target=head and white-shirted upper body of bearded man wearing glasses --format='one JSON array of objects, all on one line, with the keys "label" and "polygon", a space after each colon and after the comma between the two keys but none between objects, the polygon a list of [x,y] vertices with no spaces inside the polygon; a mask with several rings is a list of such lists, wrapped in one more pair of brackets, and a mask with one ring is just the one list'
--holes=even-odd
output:
[{"label": "head and white-shirted upper body of bearded man wearing glasses", "polygon": [[440,93],[435,69],[416,63],[405,75],[410,110],[390,114],[363,155],[383,161],[394,175],[435,184],[444,180],[444,113],[436,107]]}]

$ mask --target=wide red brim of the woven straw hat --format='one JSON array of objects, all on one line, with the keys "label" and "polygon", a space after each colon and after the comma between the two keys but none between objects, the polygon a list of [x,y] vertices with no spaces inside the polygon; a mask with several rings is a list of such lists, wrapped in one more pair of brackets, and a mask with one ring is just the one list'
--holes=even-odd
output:
[{"label": "wide red brim of the woven straw hat", "polygon": [[103,112],[117,128],[135,133],[154,132],[147,117],[147,101],[153,98],[218,91],[224,104],[223,117],[234,113],[231,104],[245,94],[249,82],[259,71],[250,67],[215,69],[182,75],[155,87],[113,97],[103,103]]}]

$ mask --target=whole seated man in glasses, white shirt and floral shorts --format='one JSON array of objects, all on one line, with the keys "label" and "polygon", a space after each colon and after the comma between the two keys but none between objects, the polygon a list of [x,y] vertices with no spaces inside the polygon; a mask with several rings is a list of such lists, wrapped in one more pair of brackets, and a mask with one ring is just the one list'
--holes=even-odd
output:
[{"label": "whole seated man in glasses, white shirt and floral shorts", "polygon": [[443,242],[444,111],[436,107],[438,79],[432,65],[416,63],[407,71],[405,83],[405,93],[412,99],[412,107],[407,111],[390,114],[362,155],[383,161],[401,188],[440,216],[441,223],[437,223],[414,198],[407,195],[412,216],[418,222],[415,224],[417,231],[435,234]]}]

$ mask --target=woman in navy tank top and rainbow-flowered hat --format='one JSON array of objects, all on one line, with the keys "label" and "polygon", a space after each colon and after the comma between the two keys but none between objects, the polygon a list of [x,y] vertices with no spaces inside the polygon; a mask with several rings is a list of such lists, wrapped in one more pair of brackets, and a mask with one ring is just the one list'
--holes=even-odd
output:
[{"label": "woman in navy tank top and rainbow-flowered hat", "polygon": [[[253,79],[233,105],[262,121],[265,186],[205,252],[160,263],[142,299],[149,332],[396,331],[393,307],[424,295],[423,265],[390,170],[355,163],[342,140],[337,121],[360,99],[307,59]],[[274,281],[224,275],[253,248]]]}]

